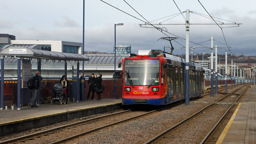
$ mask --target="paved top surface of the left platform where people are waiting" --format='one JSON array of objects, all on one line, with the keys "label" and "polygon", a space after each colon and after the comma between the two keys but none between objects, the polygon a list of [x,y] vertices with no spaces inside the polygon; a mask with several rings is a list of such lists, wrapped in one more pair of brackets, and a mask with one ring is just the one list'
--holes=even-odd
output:
[{"label": "paved top surface of the left platform where people are waiting", "polygon": [[[90,109],[98,106],[108,106],[122,103],[122,99],[89,99],[81,102],[68,102],[68,104],[42,104],[38,108],[29,106],[22,107],[21,110],[0,110],[0,125],[10,122],[22,121],[47,115],[54,115],[62,112],[71,112],[80,109]],[[10,108],[8,108],[10,109]]]}]

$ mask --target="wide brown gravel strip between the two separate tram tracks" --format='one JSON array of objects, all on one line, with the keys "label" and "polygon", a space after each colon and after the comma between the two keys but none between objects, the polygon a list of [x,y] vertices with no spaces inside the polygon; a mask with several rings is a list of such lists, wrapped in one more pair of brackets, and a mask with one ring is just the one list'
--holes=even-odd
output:
[{"label": "wide brown gravel strip between the two separate tram tracks", "polygon": [[196,103],[189,106],[179,104],[170,109],[146,115],[143,118],[137,118],[136,120],[87,134],[72,140],[72,142],[76,144],[141,144],[207,105],[205,103]]}]

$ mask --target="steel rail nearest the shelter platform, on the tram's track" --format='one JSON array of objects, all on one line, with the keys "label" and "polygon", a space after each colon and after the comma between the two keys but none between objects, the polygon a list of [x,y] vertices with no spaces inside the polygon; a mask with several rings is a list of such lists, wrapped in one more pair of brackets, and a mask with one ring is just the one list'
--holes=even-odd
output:
[{"label": "steel rail nearest the shelter platform, on the tram's track", "polygon": [[26,139],[31,139],[32,137],[42,135],[42,134],[45,134],[45,133],[49,133],[51,131],[55,131],[55,130],[60,129],[60,128],[65,128],[65,127],[68,127],[68,126],[71,126],[71,125],[77,125],[77,124],[80,124],[80,123],[83,123],[83,122],[91,121],[91,120],[98,119],[98,118],[104,118],[104,117],[111,116],[111,115],[117,115],[117,114],[120,114],[120,113],[123,113],[123,112],[128,112],[128,111],[131,111],[131,109],[128,109],[128,110],[125,110],[125,111],[122,111],[122,112],[115,112],[115,113],[108,114],[108,115],[102,115],[102,116],[86,119],[86,120],[79,121],[79,122],[74,122],[74,123],[67,124],[67,125],[62,125],[60,127],[51,128],[51,129],[48,129],[48,130],[45,130],[45,131],[39,131],[39,132],[36,132],[36,133],[33,133],[33,134],[24,135],[24,136],[21,136],[21,137],[18,137],[18,138],[13,138],[13,139],[6,140],[6,141],[0,141],[0,144],[15,143],[16,141],[19,141],[19,142],[26,141]]}]

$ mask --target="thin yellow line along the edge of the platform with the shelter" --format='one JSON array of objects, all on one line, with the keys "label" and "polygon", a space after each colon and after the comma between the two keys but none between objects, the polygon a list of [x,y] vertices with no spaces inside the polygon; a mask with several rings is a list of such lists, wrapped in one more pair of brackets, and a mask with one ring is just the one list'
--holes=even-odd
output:
[{"label": "thin yellow line along the edge of the platform with the shelter", "polygon": [[0,125],[12,124],[12,123],[17,123],[17,122],[22,122],[22,121],[27,121],[27,120],[37,119],[37,118],[44,118],[44,117],[53,116],[53,115],[60,115],[60,114],[64,114],[64,113],[76,112],[76,111],[81,111],[81,110],[85,110],[85,109],[94,109],[94,108],[99,108],[99,107],[112,106],[112,105],[117,105],[117,104],[122,104],[122,102],[115,102],[115,103],[106,104],[106,105],[102,105],[102,106],[92,106],[92,107],[82,108],[82,109],[74,109],[74,110],[70,110],[67,112],[58,112],[58,113],[53,113],[53,114],[48,114],[48,115],[40,115],[40,116],[35,116],[32,118],[25,118],[25,119],[19,119],[16,121],[3,122],[3,123],[0,123]]}]

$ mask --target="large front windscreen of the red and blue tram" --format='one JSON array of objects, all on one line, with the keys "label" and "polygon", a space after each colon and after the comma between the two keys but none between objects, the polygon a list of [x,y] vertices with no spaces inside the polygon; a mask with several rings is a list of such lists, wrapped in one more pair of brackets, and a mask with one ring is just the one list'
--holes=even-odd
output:
[{"label": "large front windscreen of the red and blue tram", "polygon": [[158,86],[160,82],[160,60],[127,59],[125,60],[126,86]]}]

